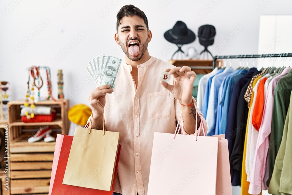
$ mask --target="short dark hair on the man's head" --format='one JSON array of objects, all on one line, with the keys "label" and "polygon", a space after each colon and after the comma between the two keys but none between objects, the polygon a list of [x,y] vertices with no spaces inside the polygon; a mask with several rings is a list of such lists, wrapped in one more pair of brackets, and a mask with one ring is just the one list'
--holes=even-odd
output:
[{"label": "short dark hair on the man's head", "polygon": [[125,16],[132,17],[134,15],[138,15],[139,17],[143,18],[144,23],[147,27],[147,30],[149,30],[148,20],[145,13],[141,11],[138,7],[135,7],[133,5],[126,5],[126,6],[121,7],[120,11],[117,13],[117,32],[118,32],[119,25],[121,24],[121,19],[124,18]]}]

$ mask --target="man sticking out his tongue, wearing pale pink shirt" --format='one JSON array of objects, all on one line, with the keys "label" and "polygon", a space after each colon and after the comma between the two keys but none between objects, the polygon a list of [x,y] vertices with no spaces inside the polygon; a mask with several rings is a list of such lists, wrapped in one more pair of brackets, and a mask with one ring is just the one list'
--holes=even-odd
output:
[{"label": "man sticking out his tongue, wearing pale pink shirt", "polygon": [[[146,195],[154,132],[174,133],[181,112],[186,134],[195,132],[196,113],[198,130],[207,132],[207,125],[192,97],[196,74],[187,66],[175,67],[149,55],[152,32],[144,12],[133,5],[123,6],[117,13],[114,38],[126,61],[114,90],[103,85],[90,93],[92,128],[102,129],[104,115],[107,131],[120,132],[114,194]],[[160,80],[165,71],[172,75],[168,82]]]}]

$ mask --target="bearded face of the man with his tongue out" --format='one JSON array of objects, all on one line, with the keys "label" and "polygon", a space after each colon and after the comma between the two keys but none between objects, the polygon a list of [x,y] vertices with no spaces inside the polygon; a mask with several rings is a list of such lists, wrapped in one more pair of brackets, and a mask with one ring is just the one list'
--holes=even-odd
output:
[{"label": "bearded face of the man with his tongue out", "polygon": [[116,41],[130,60],[138,61],[147,51],[150,31],[137,15],[124,17],[120,22]]}]

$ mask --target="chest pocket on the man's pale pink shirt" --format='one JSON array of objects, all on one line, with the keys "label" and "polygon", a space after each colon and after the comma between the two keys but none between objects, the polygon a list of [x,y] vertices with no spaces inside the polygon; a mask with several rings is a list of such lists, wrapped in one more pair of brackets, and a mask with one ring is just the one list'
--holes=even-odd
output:
[{"label": "chest pocket on the man's pale pink shirt", "polygon": [[147,93],[147,112],[150,119],[169,117],[169,91]]}]

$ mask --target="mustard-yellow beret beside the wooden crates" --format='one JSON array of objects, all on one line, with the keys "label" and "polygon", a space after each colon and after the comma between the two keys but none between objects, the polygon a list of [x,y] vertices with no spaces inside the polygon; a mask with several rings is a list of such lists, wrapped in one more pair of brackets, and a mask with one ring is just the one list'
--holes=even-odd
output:
[{"label": "mustard-yellow beret beside the wooden crates", "polygon": [[68,118],[77,125],[84,126],[91,116],[91,109],[84,104],[76,104],[69,109]]}]

